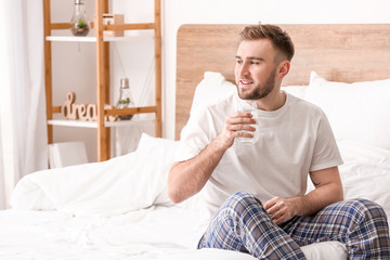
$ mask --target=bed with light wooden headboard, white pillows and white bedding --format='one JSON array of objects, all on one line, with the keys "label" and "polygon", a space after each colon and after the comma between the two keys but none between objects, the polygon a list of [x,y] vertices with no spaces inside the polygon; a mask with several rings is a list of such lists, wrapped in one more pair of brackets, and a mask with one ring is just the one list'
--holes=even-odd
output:
[{"label": "bed with light wooden headboard, white pillows and white bedding", "polygon": [[[179,29],[177,140],[192,110],[235,90],[243,27]],[[281,27],[296,46],[283,89],[326,113],[344,160],[344,197],[375,200],[390,217],[390,25]],[[130,154],[26,176],[12,209],[0,212],[0,259],[255,259],[195,249],[209,216],[199,210],[202,193],[180,205],[167,196],[178,144],[143,134]],[[337,242],[302,249],[308,259],[347,259]]]}]

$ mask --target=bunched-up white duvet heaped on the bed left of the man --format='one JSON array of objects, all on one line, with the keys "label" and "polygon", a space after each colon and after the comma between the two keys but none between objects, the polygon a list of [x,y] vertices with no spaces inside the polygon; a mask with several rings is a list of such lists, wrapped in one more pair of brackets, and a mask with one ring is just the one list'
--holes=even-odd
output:
[{"label": "bunched-up white duvet heaped on the bed left of the man", "polygon": [[134,153],[24,177],[11,205],[15,209],[109,216],[169,203],[166,178],[176,150],[177,142],[143,134]]}]

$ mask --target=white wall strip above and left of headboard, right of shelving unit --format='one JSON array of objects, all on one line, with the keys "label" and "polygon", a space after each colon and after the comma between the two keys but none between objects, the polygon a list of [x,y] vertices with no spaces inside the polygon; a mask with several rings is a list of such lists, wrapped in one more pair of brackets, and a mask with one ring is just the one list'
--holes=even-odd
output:
[{"label": "white wall strip above and left of headboard, right of shelving unit", "polygon": [[164,0],[164,133],[174,139],[176,36],[182,24],[390,23],[389,0]]}]

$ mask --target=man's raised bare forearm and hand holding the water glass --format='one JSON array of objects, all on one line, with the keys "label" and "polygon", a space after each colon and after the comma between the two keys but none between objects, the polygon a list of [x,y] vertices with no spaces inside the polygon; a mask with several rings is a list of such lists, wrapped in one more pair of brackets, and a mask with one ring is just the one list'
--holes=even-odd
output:
[{"label": "man's raised bare forearm and hand holding the water glass", "polygon": [[192,159],[176,162],[168,174],[168,196],[173,203],[198,193],[210,178],[223,154],[233,145],[235,138],[251,138],[242,130],[255,131],[250,123],[256,122],[249,113],[229,116],[222,132]]}]

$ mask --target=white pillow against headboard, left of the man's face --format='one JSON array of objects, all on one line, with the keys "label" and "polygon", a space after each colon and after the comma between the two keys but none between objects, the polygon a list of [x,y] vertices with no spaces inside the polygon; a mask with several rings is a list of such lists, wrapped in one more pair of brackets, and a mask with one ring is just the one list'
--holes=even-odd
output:
[{"label": "white pillow against headboard, left of the man's face", "polygon": [[220,73],[206,72],[204,79],[195,89],[191,114],[199,106],[207,105],[216,99],[236,91],[236,86],[225,80]]}]

